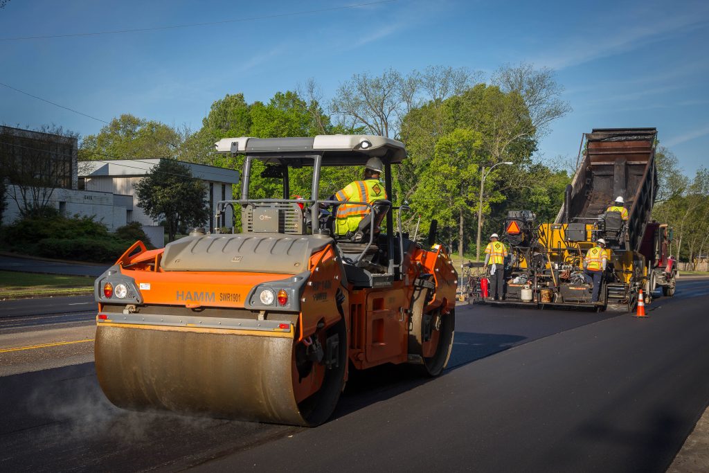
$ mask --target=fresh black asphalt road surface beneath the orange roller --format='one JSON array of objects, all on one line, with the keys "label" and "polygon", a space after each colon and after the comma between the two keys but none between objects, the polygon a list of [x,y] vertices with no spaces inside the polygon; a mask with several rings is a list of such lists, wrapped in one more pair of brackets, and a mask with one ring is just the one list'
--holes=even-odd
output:
[{"label": "fresh black asphalt road surface beneath the orange roller", "polygon": [[645,320],[459,306],[445,374],[362,374],[312,429],[122,411],[91,362],[20,372],[0,377],[0,469],[662,472],[709,402],[708,305],[686,279]]}]

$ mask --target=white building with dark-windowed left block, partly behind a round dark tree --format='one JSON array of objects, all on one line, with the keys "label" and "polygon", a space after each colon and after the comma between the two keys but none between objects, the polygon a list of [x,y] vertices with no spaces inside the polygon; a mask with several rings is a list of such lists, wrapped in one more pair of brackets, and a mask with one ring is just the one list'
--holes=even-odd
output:
[{"label": "white building with dark-windowed left block, partly behind a round dark tree", "polygon": [[[6,207],[2,224],[9,225],[21,216],[23,191],[26,196],[35,194],[40,204],[56,208],[67,216],[90,216],[103,223],[108,231],[127,223],[138,221],[155,247],[162,247],[164,229],[157,221],[145,215],[138,207],[133,186],[143,179],[150,169],[160,162],[150,160],[77,161],[77,138],[0,126],[0,164],[6,179],[4,196]],[[233,218],[228,216],[215,221],[216,203],[232,199],[233,187],[239,173],[206,165],[181,162],[194,177],[206,185],[205,199],[209,202],[210,219],[206,230],[230,227]],[[48,187],[18,184],[27,175]],[[36,197],[37,194],[41,198]],[[37,202],[35,202],[37,204]]]}]

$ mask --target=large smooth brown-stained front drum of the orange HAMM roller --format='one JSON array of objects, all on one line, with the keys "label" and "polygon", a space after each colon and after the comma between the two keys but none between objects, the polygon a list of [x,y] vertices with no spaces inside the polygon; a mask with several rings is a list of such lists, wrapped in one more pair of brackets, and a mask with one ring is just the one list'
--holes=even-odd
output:
[{"label": "large smooth brown-stained front drum of the orange HAMM roller", "polygon": [[313,382],[312,377],[298,375],[294,339],[282,335],[100,324],[96,374],[106,397],[121,408],[303,426],[323,423],[343,387],[345,324],[327,331],[328,337],[339,338],[338,362],[320,367],[319,389],[306,399],[296,398],[303,392],[298,383]]}]

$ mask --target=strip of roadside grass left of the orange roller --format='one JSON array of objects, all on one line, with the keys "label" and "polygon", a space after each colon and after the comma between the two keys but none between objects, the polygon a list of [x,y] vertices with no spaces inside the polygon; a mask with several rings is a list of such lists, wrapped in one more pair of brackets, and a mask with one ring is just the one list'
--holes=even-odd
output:
[{"label": "strip of roadside grass left of the orange roller", "polygon": [[0,299],[90,294],[94,277],[0,271]]}]

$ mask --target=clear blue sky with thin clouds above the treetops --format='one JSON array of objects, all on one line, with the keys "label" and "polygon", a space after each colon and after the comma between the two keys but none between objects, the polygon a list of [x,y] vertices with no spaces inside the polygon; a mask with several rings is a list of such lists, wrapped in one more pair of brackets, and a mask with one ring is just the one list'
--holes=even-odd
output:
[{"label": "clear blue sky with thin clouds above the treetops", "polygon": [[[0,38],[152,28],[372,0],[11,0]],[[110,121],[121,113],[198,129],[211,103],[267,101],[315,78],[331,97],[355,72],[428,65],[490,74],[552,67],[574,111],[540,158],[575,157],[591,128],[655,126],[686,174],[709,165],[709,2],[422,1],[125,34],[0,40],[0,82]],[[103,123],[0,87],[0,123]]]}]

